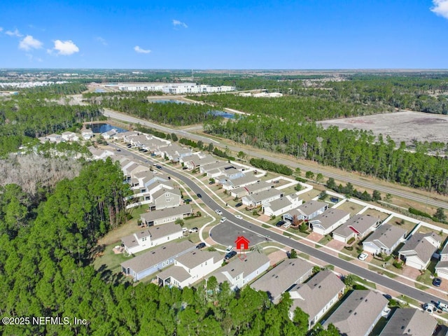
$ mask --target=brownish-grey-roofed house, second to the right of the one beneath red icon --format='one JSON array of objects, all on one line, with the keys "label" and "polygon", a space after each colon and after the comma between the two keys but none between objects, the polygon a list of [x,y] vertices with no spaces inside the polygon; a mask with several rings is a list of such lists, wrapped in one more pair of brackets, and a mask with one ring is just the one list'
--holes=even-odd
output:
[{"label": "brownish-grey-roofed house, second to the right of the one beneath red icon", "polygon": [[293,304],[289,317],[293,319],[295,308],[300,307],[308,314],[308,328],[311,329],[344,294],[344,289],[344,283],[333,272],[318,272],[306,283],[297,283],[290,288]]}]

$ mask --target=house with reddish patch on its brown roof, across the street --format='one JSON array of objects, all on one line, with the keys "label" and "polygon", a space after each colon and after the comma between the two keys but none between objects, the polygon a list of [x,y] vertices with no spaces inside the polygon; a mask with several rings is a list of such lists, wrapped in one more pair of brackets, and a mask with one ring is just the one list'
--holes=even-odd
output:
[{"label": "house with reddish patch on its brown roof, across the street", "polygon": [[333,231],[332,237],[337,241],[347,243],[351,238],[364,239],[381,223],[378,217],[370,215],[355,215]]}]

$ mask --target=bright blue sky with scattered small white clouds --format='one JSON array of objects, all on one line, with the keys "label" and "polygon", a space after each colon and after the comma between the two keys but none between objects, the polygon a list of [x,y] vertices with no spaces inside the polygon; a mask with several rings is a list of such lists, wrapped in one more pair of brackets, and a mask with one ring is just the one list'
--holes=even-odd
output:
[{"label": "bright blue sky with scattered small white clouds", "polygon": [[0,66],[447,69],[448,0],[0,1]]}]

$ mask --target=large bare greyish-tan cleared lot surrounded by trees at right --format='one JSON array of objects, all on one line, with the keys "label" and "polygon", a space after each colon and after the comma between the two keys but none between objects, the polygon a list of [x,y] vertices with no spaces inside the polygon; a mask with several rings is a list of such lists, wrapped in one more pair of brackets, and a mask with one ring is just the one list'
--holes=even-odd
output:
[{"label": "large bare greyish-tan cleared lot surrounded by trees at right", "polygon": [[401,141],[407,145],[412,140],[448,142],[448,116],[413,111],[377,114],[375,116],[332,119],[319,122],[324,128],[337,126],[339,129],[360,129],[389,135],[397,146]]}]

